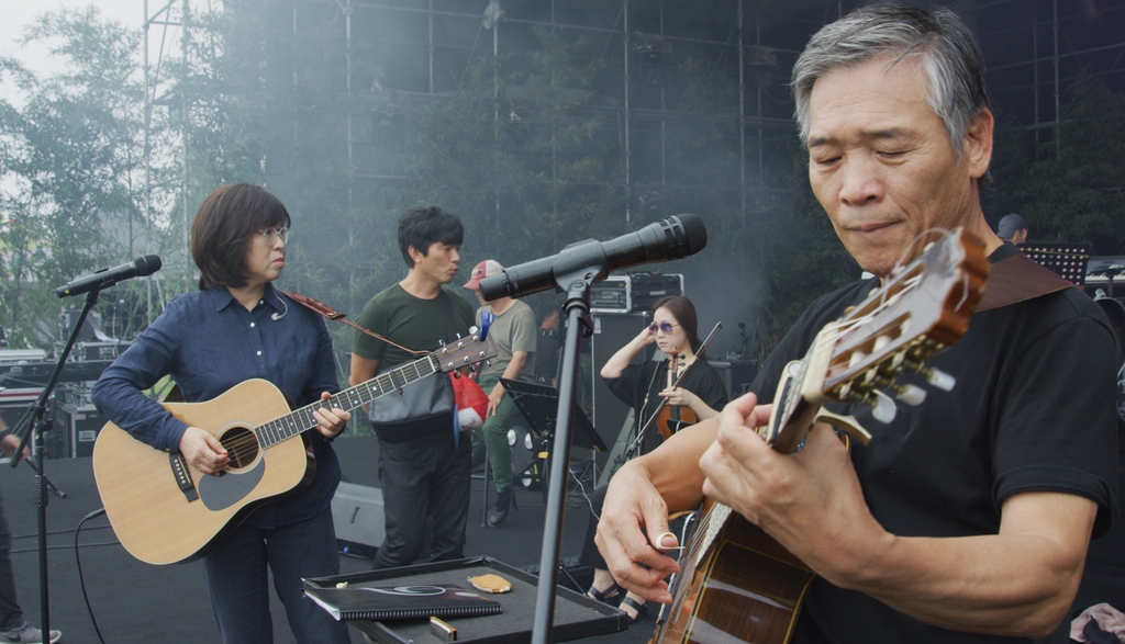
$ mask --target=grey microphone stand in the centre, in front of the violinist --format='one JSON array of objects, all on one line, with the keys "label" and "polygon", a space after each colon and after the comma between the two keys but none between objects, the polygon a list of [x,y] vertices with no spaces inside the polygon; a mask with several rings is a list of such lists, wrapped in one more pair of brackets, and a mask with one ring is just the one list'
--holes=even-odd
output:
[{"label": "grey microphone stand in the centre, in front of the violinist", "polygon": [[559,548],[562,539],[562,518],[566,513],[567,478],[570,473],[570,432],[574,424],[574,401],[578,387],[580,342],[594,333],[590,319],[591,284],[604,266],[591,266],[561,278],[556,284],[566,291],[566,344],[559,359],[559,406],[555,416],[555,445],[551,448],[550,482],[547,495],[547,516],[543,519],[543,546],[539,556],[539,586],[536,593],[536,618],[531,632],[532,644],[551,641],[555,620],[555,595],[559,578]]}]

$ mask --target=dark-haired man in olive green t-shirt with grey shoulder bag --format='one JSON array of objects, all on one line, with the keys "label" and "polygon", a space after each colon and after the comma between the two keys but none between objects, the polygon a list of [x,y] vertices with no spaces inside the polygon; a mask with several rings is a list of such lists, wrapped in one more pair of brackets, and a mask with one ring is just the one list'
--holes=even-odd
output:
[{"label": "dark-haired man in olive green t-shirt with grey shoulder bag", "polygon": [[[398,245],[406,278],[371,299],[357,324],[411,351],[433,351],[453,332],[468,335],[472,307],[442,289],[453,281],[460,262],[464,228],[440,208],[415,208],[398,221]],[[412,360],[410,353],[367,334],[352,344],[354,387]],[[433,378],[448,378],[439,373]],[[418,383],[421,384],[421,383]],[[414,563],[422,554],[425,523],[432,523],[432,561],[461,559],[469,517],[472,469],[469,441],[454,442],[453,415],[396,426],[376,427],[379,482],[386,538],[375,568]]]}]

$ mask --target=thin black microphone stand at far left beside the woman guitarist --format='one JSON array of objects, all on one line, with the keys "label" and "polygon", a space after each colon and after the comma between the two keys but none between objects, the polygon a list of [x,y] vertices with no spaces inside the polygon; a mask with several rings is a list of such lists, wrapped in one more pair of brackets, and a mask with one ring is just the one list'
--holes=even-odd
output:
[{"label": "thin black microphone stand at far left beside the woman guitarist", "polygon": [[44,386],[43,391],[39,392],[36,401],[32,403],[28,412],[24,415],[19,425],[12,430],[15,435],[20,437],[19,448],[12,454],[12,468],[19,465],[20,455],[24,453],[24,448],[27,447],[28,439],[33,434],[35,435],[36,462],[32,463],[32,468],[35,470],[34,497],[39,535],[39,610],[42,613],[39,628],[43,631],[43,637],[47,641],[51,640],[51,606],[47,593],[47,493],[45,489],[54,488],[54,486],[51,484],[51,481],[43,473],[43,454],[46,452],[46,447],[43,444],[43,433],[51,429],[51,423],[44,416],[47,411],[47,399],[51,398],[51,394],[55,390],[58,377],[63,372],[63,365],[66,363],[66,359],[70,356],[70,352],[78,341],[78,334],[86,323],[86,316],[89,315],[90,309],[98,301],[98,293],[100,292],[100,289],[93,289],[86,294],[86,306],[82,307],[82,312],[78,316],[78,321],[71,329],[70,337],[66,339],[66,346],[55,361],[55,369],[51,372],[51,378],[47,379],[47,383]]}]

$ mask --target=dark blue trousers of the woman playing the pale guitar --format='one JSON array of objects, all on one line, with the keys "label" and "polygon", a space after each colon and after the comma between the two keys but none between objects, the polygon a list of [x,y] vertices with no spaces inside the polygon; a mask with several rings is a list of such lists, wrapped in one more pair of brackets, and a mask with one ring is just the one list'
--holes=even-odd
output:
[{"label": "dark blue trousers of the woman playing the pale guitar", "polygon": [[348,625],[305,599],[300,584],[302,578],[340,573],[331,509],[277,528],[243,524],[202,562],[224,644],[272,644],[270,571],[294,640],[302,644],[351,642]]}]

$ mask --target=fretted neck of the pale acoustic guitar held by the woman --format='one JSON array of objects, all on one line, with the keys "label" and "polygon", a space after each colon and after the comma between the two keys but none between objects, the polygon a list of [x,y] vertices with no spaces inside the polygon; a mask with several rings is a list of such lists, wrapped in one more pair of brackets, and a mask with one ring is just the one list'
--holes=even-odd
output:
[{"label": "fretted neck of the pale acoustic guitar held by the woman", "polygon": [[403,387],[417,382],[423,378],[429,378],[439,371],[441,370],[436,359],[433,355],[426,355],[425,357],[376,375],[367,382],[344,389],[325,400],[317,400],[280,418],[274,418],[264,425],[255,427],[254,432],[258,434],[258,439],[262,447],[270,447],[271,445],[277,445],[282,441],[292,438],[302,432],[316,427],[316,418],[313,417],[313,412],[317,409],[343,409],[344,411],[351,411],[377,398],[397,392]]}]

